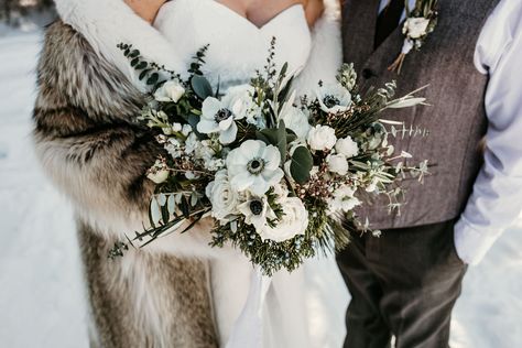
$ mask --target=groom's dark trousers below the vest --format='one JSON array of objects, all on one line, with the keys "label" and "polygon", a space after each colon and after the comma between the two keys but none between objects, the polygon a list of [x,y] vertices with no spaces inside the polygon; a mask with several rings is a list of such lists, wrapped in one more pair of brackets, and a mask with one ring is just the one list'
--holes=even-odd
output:
[{"label": "groom's dark trousers below the vest", "polygon": [[345,348],[446,348],[467,267],[454,220],[354,236],[337,262],[352,300]]}]

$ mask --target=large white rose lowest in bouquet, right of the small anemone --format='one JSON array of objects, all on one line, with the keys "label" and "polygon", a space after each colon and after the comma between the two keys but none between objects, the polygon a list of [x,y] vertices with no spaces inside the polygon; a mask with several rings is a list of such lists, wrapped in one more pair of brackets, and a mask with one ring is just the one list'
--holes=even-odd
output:
[{"label": "large white rose lowest in bouquet, right of the small anemone", "polygon": [[297,197],[286,197],[279,200],[283,208],[283,216],[274,227],[268,224],[257,228],[258,233],[263,240],[270,239],[282,242],[294,238],[297,235],[304,235],[308,227],[308,211],[303,202]]}]

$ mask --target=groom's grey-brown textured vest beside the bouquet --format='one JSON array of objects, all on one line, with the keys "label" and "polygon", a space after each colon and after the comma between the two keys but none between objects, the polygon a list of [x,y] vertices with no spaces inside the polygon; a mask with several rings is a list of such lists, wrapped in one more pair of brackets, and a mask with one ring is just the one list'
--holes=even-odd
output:
[{"label": "groom's grey-brown textured vest beside the bouquet", "polygon": [[[405,180],[406,204],[400,214],[388,211],[388,199],[379,199],[359,211],[371,228],[389,229],[441,222],[464,210],[482,164],[480,140],[487,118],[485,91],[488,76],[474,65],[482,26],[499,0],[439,0],[439,18],[421,51],[406,56],[401,75],[388,66],[401,52],[402,24],[373,50],[380,0],[346,0],[342,6],[345,62],[354,62],[362,86],[381,86],[393,79],[398,96],[429,85],[420,96],[432,106],[385,111],[383,118],[403,121],[407,128],[427,129],[427,138],[398,137],[396,150],[413,160],[429,160],[424,184]],[[412,161],[412,160],[409,160]],[[414,161],[409,162],[414,163]]]}]

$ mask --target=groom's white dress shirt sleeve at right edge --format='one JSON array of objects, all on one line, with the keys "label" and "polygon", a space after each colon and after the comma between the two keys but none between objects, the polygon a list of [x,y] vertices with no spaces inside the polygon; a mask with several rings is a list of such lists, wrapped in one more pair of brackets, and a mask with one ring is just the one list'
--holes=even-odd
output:
[{"label": "groom's white dress shirt sleeve at right edge", "polygon": [[[381,1],[380,10],[388,1]],[[410,7],[414,6],[415,0],[410,0]],[[522,1],[501,0],[475,50],[475,66],[489,76],[485,97],[489,126],[485,164],[455,226],[457,253],[469,264],[483,258],[522,210],[521,61]]]}]

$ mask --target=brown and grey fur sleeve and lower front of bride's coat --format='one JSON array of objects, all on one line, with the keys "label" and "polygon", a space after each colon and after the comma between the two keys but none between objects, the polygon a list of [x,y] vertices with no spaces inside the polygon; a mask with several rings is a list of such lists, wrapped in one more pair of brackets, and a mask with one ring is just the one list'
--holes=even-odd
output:
[{"label": "brown and grey fur sleeve and lower front of bride's coat", "polygon": [[[208,241],[197,231],[152,243],[159,247],[154,252],[107,259],[118,238],[140,230],[153,192],[143,173],[161,150],[131,122],[143,102],[139,91],[61,22],[47,31],[39,89],[36,153],[76,207],[97,329],[93,344],[215,347],[206,262],[168,255],[208,254]],[[173,248],[168,254],[162,252],[165,244]],[[194,246],[208,250],[198,253]]]}]

